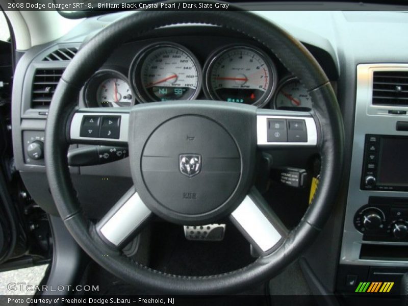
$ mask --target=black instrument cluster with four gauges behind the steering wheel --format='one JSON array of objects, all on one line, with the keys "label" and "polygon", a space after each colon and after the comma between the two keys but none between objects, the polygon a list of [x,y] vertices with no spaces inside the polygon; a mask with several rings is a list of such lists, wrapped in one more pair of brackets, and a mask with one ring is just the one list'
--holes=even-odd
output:
[{"label": "black instrument cluster with four gauges behind the steering wheel", "polygon": [[[205,99],[259,108],[312,109],[305,87],[256,41],[215,27],[198,39],[189,35],[193,29],[162,31],[164,37],[129,42],[115,50],[84,85],[80,106],[129,107]],[[334,66],[324,50],[311,49],[326,67]]]}]

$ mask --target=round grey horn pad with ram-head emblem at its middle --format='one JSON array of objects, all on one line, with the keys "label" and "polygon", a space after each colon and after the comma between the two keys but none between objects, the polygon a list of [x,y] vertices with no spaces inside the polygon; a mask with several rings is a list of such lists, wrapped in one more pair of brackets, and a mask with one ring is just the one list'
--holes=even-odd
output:
[{"label": "round grey horn pad with ram-head emblem at its middle", "polygon": [[156,201],[174,212],[203,214],[222,205],[237,187],[241,158],[232,136],[212,119],[170,119],[148,138],[143,181]]}]

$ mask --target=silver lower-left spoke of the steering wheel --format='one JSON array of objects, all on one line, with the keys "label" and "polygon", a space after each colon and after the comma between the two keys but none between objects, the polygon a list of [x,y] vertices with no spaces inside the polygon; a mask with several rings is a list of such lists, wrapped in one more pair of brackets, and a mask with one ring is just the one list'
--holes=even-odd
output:
[{"label": "silver lower-left spoke of the steering wheel", "polygon": [[96,232],[109,245],[122,248],[142,229],[151,211],[135,187],[129,189],[96,224]]}]

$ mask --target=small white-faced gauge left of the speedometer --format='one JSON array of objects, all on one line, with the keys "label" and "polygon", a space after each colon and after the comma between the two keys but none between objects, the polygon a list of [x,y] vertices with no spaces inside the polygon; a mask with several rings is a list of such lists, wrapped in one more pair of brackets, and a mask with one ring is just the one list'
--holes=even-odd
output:
[{"label": "small white-faced gauge left of the speedometer", "polygon": [[85,100],[89,107],[134,105],[134,96],[127,78],[115,70],[96,72],[85,86]]}]

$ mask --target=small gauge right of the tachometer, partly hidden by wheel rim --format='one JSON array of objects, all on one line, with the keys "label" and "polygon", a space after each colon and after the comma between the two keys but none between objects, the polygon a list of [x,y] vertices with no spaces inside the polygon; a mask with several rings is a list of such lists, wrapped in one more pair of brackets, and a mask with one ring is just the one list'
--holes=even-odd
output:
[{"label": "small gauge right of the tachometer, partly hidden by wheel rim", "polygon": [[300,81],[295,77],[287,78],[278,86],[273,99],[275,109],[310,110],[312,98]]}]

